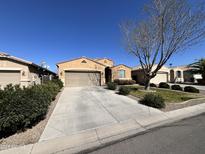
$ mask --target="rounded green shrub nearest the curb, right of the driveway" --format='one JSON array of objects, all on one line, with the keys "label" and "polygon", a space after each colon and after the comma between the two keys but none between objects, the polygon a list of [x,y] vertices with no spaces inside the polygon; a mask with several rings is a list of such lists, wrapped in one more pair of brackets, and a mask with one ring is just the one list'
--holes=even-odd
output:
[{"label": "rounded green shrub nearest the curb, right of the driveway", "polygon": [[140,103],[147,105],[147,106],[150,106],[150,107],[159,108],[159,109],[165,107],[164,99],[160,95],[156,95],[153,93],[146,94],[140,100]]}]

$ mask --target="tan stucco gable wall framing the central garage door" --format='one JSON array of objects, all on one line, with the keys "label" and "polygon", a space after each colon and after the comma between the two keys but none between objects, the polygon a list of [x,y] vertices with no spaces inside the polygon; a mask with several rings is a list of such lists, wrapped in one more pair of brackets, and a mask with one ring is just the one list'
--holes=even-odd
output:
[{"label": "tan stucco gable wall framing the central garage door", "polygon": [[59,78],[65,83],[65,71],[66,70],[89,70],[101,72],[101,84],[105,84],[105,67],[101,64],[95,63],[92,60],[86,58],[79,58],[68,62],[59,63],[58,75]]}]

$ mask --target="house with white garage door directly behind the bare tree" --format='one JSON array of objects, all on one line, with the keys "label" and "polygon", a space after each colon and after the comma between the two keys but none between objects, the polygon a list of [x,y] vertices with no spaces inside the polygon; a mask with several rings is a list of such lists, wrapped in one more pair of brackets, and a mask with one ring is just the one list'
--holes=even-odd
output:
[{"label": "house with white garage door directly behind the bare tree", "polygon": [[[153,66],[153,70],[157,65]],[[145,76],[142,68],[140,66],[132,68],[132,79],[136,81],[136,83],[144,84]],[[160,82],[169,82],[169,68],[163,66],[158,72],[157,75],[151,79],[150,83],[159,84]]]}]

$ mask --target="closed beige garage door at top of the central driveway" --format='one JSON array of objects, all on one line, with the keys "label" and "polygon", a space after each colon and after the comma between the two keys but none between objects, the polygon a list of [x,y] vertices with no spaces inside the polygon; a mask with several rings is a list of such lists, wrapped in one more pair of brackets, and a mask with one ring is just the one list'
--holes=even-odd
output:
[{"label": "closed beige garage door at top of the central driveway", "polygon": [[99,72],[65,72],[66,87],[99,86]]}]

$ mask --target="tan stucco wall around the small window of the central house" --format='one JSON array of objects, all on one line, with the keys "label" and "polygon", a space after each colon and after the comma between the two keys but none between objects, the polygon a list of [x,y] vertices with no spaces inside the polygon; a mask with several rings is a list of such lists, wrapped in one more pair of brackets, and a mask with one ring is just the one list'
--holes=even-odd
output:
[{"label": "tan stucco wall around the small window of the central house", "polygon": [[112,80],[120,79],[119,75],[118,75],[119,70],[125,71],[125,78],[124,79],[132,79],[131,68],[126,67],[124,65],[118,65],[118,66],[112,67]]}]

